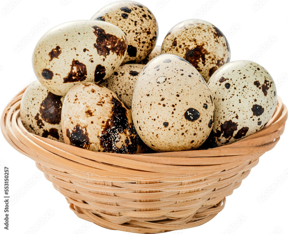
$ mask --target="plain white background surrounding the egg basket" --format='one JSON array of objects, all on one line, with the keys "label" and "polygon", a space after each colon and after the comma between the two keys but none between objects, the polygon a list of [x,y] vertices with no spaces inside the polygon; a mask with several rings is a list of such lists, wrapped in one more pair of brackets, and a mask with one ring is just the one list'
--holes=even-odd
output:
[{"label": "plain white background surrounding the egg basket", "polygon": [[[1,0],[1,112],[14,95],[35,80],[31,56],[40,37],[58,24],[90,19],[109,3],[111,0]],[[158,20],[158,45],[170,28],[180,21],[189,18],[209,21],[226,34],[231,61],[254,59],[264,66],[274,78],[278,95],[288,104],[287,1],[142,0],[141,3]],[[7,8],[8,5],[12,8]],[[25,42],[29,34],[32,38]],[[286,129],[276,147],[260,158],[259,164],[243,180],[240,188],[227,198],[226,207],[213,220],[200,227],[171,233],[288,233],[287,140]],[[2,135],[0,142],[0,197],[4,193],[1,186],[4,184],[4,166],[7,166],[10,168],[10,196],[14,201],[10,204],[9,231],[3,229],[4,203],[1,203],[1,233],[123,233],[78,218],[69,209],[64,196],[35,167],[34,161],[14,150]],[[274,189],[269,194],[272,186]],[[24,192],[21,194],[21,191]],[[263,193],[268,196],[259,201]],[[48,215],[51,217],[47,216],[49,212],[52,212]],[[37,230],[33,230],[35,226]]]}]

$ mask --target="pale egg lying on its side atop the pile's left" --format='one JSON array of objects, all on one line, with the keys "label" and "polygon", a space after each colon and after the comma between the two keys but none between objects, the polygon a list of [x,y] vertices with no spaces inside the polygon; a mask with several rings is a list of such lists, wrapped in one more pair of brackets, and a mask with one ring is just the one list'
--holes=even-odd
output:
[{"label": "pale egg lying on its side atop the pile's left", "polygon": [[126,36],[115,25],[72,21],[41,37],[33,52],[33,69],[50,92],[65,96],[77,83],[98,83],[112,75],[126,51]]}]

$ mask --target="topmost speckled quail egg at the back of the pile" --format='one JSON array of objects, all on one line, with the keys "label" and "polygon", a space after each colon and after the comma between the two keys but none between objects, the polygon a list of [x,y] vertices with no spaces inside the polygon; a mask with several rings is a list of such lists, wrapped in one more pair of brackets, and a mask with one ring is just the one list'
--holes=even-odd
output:
[{"label": "topmost speckled quail egg at the back of the pile", "polygon": [[156,45],[158,23],[152,12],[139,2],[111,3],[96,12],[91,20],[109,22],[126,34],[128,50],[124,62],[142,61]]}]

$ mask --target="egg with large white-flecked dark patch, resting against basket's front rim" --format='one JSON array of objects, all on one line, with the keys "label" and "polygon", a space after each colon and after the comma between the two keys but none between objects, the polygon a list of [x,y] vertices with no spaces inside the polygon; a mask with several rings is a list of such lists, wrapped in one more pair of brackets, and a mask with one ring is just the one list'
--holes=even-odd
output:
[{"label": "egg with large white-flecked dark patch, resting against basket's front rim", "polygon": [[96,83],[72,87],[63,102],[64,142],[98,152],[142,153],[131,109],[111,90]]}]

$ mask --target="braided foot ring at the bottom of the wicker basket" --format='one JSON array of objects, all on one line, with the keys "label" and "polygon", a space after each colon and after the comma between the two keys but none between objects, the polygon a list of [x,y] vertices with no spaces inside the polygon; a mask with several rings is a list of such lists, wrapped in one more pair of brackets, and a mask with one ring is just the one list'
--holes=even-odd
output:
[{"label": "braided foot ring at the bottom of the wicker basket", "polygon": [[139,222],[139,221],[130,221],[128,223],[119,225],[105,220],[105,218],[98,216],[96,214],[91,213],[88,210],[81,209],[73,204],[70,204],[69,208],[79,217],[86,221],[93,222],[94,224],[107,228],[110,230],[119,230],[126,231],[131,233],[164,233],[169,231],[175,231],[180,229],[187,229],[191,227],[200,226],[212,218],[214,218],[221,210],[223,210],[226,203],[226,197],[215,205],[213,208],[209,208],[204,210],[201,213],[196,213],[193,217],[191,217],[190,221],[188,221],[185,225],[175,225],[175,221],[173,224],[169,224],[168,221],[163,224],[163,222]]}]

